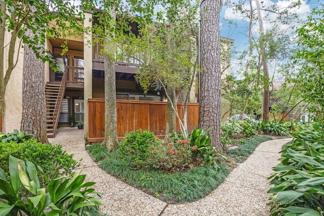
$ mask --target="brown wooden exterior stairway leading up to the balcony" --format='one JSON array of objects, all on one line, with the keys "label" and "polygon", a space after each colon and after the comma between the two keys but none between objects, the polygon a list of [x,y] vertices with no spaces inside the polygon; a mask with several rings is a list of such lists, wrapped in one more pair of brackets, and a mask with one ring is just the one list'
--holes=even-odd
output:
[{"label": "brown wooden exterior stairway leading up to the balcony", "polygon": [[[63,76],[64,77],[64,76]],[[55,137],[60,117],[62,99],[65,92],[66,79],[62,82],[47,82],[45,87],[46,129],[47,137]]]}]

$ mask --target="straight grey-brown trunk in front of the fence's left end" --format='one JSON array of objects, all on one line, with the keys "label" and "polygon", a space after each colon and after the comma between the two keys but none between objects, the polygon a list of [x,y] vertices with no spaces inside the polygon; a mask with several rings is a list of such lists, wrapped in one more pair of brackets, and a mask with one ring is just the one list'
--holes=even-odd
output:
[{"label": "straight grey-brown trunk in front of the fence's left end", "polygon": [[[111,10],[111,17],[107,25],[114,25],[116,14]],[[107,41],[109,41],[111,27],[106,28]],[[113,55],[112,45],[104,47],[104,70],[105,70],[105,139],[101,145],[106,146],[108,151],[117,149],[117,109],[116,109],[116,72],[115,62],[111,61]]]}]

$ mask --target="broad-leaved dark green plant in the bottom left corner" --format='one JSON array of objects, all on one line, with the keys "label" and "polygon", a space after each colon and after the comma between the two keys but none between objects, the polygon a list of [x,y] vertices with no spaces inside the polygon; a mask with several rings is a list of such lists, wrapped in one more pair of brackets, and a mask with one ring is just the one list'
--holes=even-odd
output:
[{"label": "broad-leaved dark green plant in the bottom left corner", "polygon": [[[88,188],[95,183],[84,184],[86,175],[80,175],[82,169],[71,179],[50,181],[40,166],[37,167],[42,175],[38,177],[36,166],[28,160],[25,163],[10,155],[9,167],[9,182],[0,168],[0,215],[89,215],[90,207],[98,210],[101,204],[91,195],[98,193]],[[41,188],[39,178],[46,180],[48,192]]]}]

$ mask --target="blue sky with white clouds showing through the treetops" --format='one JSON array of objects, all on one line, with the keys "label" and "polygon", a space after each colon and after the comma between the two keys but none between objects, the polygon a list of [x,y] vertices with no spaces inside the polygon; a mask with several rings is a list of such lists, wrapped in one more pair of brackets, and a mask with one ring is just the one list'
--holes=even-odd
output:
[{"label": "blue sky with white clouds showing through the treetops", "polygon": [[[262,0],[262,5],[263,6],[269,6],[271,4],[276,4],[278,6],[278,8],[285,8],[288,7],[292,2],[296,2],[297,0],[279,0],[279,1],[275,1],[275,0]],[[246,8],[250,8],[249,6],[249,1],[246,1]],[[321,1],[319,1],[321,2]],[[307,0],[301,0],[301,6],[299,8],[294,9],[294,13],[296,13],[298,15],[298,17],[302,20],[305,20],[307,18],[307,15],[309,14],[309,12],[311,11],[312,8],[314,7],[318,7],[320,5],[320,3],[318,3],[317,0],[311,0],[311,1],[307,1]],[[255,2],[253,1],[253,8],[256,9],[255,6]],[[263,16],[265,16],[265,12],[263,11]],[[275,14],[267,14],[268,18],[270,20],[274,20],[276,18]],[[244,18],[242,15],[237,14],[235,12],[233,12],[232,9],[227,8],[227,7],[223,7],[221,14],[220,14],[220,18],[221,18],[221,24],[220,24],[220,35],[223,37],[228,37],[231,39],[234,39],[235,42],[232,46],[233,49],[235,49],[238,52],[241,52],[243,50],[245,50],[248,47],[248,27],[249,27],[249,20]],[[233,22],[233,24],[229,27],[224,21],[222,21],[222,19],[227,18],[229,20],[231,20]],[[270,28],[270,24],[269,22],[266,22],[265,20],[263,21],[263,25],[264,27]],[[297,27],[300,27],[302,25],[302,23],[300,21],[295,21],[292,22],[291,25],[295,25]],[[255,21],[253,23],[253,34],[257,35],[257,31],[259,28],[258,23]],[[281,28],[287,28],[288,26],[285,25],[281,25]],[[291,32],[293,32],[293,30],[291,30]],[[231,72],[235,74],[235,71],[238,70],[237,65],[235,64],[236,59],[235,57],[233,57],[231,59],[232,61],[232,65],[231,65]],[[281,79],[281,77],[276,77],[276,79]]]}]

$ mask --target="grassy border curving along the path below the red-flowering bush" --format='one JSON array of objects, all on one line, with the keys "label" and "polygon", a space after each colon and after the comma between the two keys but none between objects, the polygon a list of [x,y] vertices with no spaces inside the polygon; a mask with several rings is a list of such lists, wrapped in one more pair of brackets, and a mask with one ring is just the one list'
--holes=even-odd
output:
[{"label": "grassy border curving along the path below the red-flowering bush", "polygon": [[136,170],[115,158],[107,158],[99,166],[128,184],[170,202],[192,202],[202,198],[216,189],[229,173],[223,164],[219,165],[219,170],[200,165],[188,172],[174,174],[148,168]]}]

